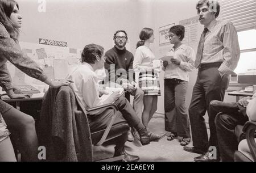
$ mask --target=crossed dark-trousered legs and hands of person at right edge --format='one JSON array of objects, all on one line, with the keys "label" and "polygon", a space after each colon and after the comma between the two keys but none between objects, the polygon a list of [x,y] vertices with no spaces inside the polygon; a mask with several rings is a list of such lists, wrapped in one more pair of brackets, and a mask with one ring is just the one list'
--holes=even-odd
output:
[{"label": "crossed dark-trousered legs and hands of person at right edge", "polygon": [[[255,98],[256,92],[252,97],[247,96],[240,99],[238,103],[225,103],[217,100],[213,100],[210,103],[210,109],[222,112],[215,118],[221,161],[234,161],[234,152],[238,148],[238,141],[234,134],[234,129],[238,124],[243,125],[249,119],[255,120],[255,117],[252,116],[253,114],[249,113],[253,111],[253,106],[256,106]],[[247,110],[249,102],[253,106],[250,106],[250,110]],[[255,110],[254,113],[256,113]]]}]

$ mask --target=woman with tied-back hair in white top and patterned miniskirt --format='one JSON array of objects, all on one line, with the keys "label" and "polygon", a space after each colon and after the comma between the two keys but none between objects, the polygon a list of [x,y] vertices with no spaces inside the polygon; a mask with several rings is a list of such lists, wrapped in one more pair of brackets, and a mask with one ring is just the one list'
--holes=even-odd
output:
[{"label": "woman with tied-back hair in white top and patterned miniskirt", "polygon": [[[150,44],[154,43],[154,31],[151,28],[143,28],[139,33],[137,49],[133,61],[135,73],[139,73],[139,87],[144,91],[142,123],[147,128],[148,123],[154,115],[157,104],[159,88],[159,68],[153,68],[154,53],[150,49]],[[165,136],[165,133],[158,134],[159,139]]]}]

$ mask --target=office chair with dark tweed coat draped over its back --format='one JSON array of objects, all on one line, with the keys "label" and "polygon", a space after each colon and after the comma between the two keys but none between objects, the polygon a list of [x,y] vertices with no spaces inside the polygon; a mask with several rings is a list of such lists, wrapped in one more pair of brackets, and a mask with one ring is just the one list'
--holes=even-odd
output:
[{"label": "office chair with dark tweed coat draped over its back", "polygon": [[[52,154],[52,157],[49,155],[49,161],[93,161],[93,145],[102,145],[129,130],[125,121],[113,125],[118,110],[114,104],[87,110],[80,105],[69,86],[58,89],[50,87],[44,95],[40,119],[40,132],[43,134],[39,137],[43,145],[48,146],[48,154]],[[105,129],[91,133],[87,115],[104,109],[113,111],[112,119]],[[101,161],[119,161],[124,158],[121,155]]]}]

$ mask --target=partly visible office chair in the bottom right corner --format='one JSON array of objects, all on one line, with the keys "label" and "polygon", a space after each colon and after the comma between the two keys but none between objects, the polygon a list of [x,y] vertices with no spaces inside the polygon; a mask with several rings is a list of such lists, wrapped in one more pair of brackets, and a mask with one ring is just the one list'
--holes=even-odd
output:
[{"label": "partly visible office chair in the bottom right corner", "polygon": [[[249,148],[250,153],[243,153],[243,151],[239,150],[234,154],[235,162],[256,162],[256,143],[255,143],[255,130],[256,130],[256,122],[247,121],[243,126],[243,132],[245,132],[246,141],[241,141],[240,145],[243,145],[243,148]],[[248,155],[249,154],[249,155]]]}]

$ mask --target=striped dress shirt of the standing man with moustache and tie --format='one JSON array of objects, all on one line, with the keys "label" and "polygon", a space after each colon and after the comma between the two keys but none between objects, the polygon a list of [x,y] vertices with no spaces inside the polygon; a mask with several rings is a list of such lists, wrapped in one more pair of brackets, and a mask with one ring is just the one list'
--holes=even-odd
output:
[{"label": "striped dress shirt of the standing man with moustache and tie", "polygon": [[201,64],[222,62],[218,71],[233,74],[240,58],[236,28],[232,22],[218,22],[216,19],[207,28]]}]

